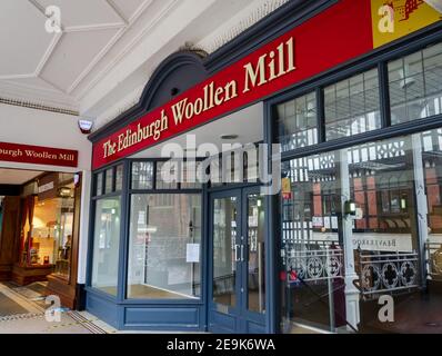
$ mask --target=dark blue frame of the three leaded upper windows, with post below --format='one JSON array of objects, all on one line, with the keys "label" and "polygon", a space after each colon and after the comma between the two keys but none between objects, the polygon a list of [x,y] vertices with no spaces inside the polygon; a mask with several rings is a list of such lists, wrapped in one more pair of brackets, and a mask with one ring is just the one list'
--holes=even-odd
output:
[{"label": "dark blue frame of the three leaded upper windows, with post below", "polygon": [[[323,154],[338,149],[349,148],[355,145],[368,144],[374,140],[383,140],[399,136],[406,136],[415,132],[438,129],[442,127],[442,115],[428,117],[424,119],[413,120],[404,123],[391,125],[391,109],[390,109],[390,88],[389,88],[389,71],[388,62],[405,57],[416,51],[424,50],[426,47],[436,44],[442,41],[442,26],[436,23],[430,30],[418,31],[401,40],[398,40],[389,46],[374,49],[366,55],[363,55],[354,60],[350,60],[343,65],[333,67],[323,73],[303,80],[290,88],[282,90],[279,93],[264,100],[264,142],[271,147],[277,142],[275,135],[278,132],[277,120],[274,120],[277,106],[291,100],[295,97],[305,95],[312,90],[317,90],[317,110],[318,110],[318,135],[319,144],[315,146],[298,148],[291,151],[270,152],[269,164],[273,155],[281,159],[281,162],[303,158],[307,156]],[[351,76],[359,75],[371,68],[378,67],[379,90],[380,90],[380,110],[381,110],[381,128],[378,130],[359,134],[351,137],[340,138],[335,140],[325,140],[325,112],[324,112],[324,97],[323,88],[345,79]],[[273,196],[268,199],[269,209],[269,229],[273,231],[273,236],[280,236],[283,227],[279,222],[279,197]],[[282,268],[282,260],[279,256],[281,248],[281,240],[273,239],[270,258],[274,261],[270,267],[269,273],[275,275]],[[274,283],[271,299],[274,306],[272,307],[273,315],[270,315],[271,328],[281,333],[281,281],[278,279]]]}]

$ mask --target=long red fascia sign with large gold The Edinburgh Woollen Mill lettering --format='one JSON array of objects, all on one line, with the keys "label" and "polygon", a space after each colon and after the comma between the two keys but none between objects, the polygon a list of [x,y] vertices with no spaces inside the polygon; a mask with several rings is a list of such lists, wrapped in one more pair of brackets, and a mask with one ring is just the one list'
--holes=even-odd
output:
[{"label": "long red fascia sign with large gold The Edinburgh Woollen Mill lettering", "polygon": [[341,0],[93,145],[97,169],[373,49],[370,0]]}]

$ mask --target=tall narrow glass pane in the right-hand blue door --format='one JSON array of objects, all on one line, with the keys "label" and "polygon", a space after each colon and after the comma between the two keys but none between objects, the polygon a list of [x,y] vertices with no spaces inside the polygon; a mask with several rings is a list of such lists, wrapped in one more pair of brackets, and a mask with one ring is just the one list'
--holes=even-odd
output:
[{"label": "tall narrow glass pane in the right-hand blue door", "polygon": [[265,231],[264,199],[248,196],[248,308],[265,313]]}]

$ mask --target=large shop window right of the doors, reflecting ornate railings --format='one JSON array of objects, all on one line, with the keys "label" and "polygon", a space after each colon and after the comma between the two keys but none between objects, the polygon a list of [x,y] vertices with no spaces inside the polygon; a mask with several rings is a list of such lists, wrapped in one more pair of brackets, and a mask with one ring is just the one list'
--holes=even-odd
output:
[{"label": "large shop window right of the doors, reflecting ornate railings", "polygon": [[[348,332],[345,259],[358,276],[354,329],[442,332],[441,157],[435,129],[283,162],[291,186],[280,197],[283,332],[300,323]],[[382,295],[394,300],[393,323],[379,320]]]}]

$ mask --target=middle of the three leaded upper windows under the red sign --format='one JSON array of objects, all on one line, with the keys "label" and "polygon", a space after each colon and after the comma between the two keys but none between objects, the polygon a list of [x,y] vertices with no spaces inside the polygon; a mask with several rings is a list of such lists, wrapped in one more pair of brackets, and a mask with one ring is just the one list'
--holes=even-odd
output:
[{"label": "middle of the three leaded upper windows under the red sign", "polygon": [[381,128],[378,70],[324,88],[324,111],[327,140]]}]

